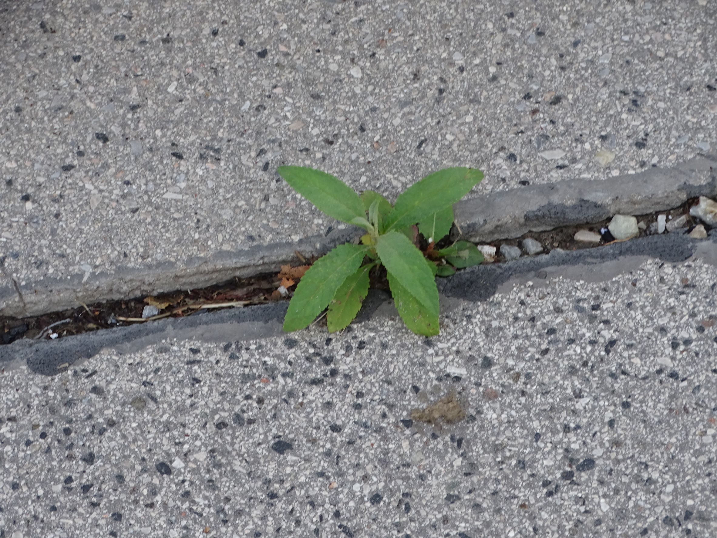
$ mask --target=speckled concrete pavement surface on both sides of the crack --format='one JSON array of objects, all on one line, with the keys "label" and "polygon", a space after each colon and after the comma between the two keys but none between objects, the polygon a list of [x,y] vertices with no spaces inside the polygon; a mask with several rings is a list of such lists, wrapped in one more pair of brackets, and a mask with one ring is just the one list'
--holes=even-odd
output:
[{"label": "speckled concrete pavement surface on both sides of the crack", "polygon": [[[336,228],[280,164],[391,195],[478,166],[475,195],[717,146],[704,0],[1,9],[0,278],[19,285]],[[381,306],[332,336],[229,321],[52,377],[4,362],[0,538],[711,537],[702,245],[462,273],[429,340]],[[419,421],[450,395],[460,420]]]}]

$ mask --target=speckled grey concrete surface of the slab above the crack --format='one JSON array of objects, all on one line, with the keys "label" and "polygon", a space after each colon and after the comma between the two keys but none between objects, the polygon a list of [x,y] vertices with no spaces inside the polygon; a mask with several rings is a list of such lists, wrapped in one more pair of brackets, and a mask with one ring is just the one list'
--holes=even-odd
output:
[{"label": "speckled grey concrete surface of the slab above the crack", "polygon": [[477,194],[717,145],[713,1],[0,9],[0,241],[19,283],[336,227],[280,164],[390,196],[478,166]]}]

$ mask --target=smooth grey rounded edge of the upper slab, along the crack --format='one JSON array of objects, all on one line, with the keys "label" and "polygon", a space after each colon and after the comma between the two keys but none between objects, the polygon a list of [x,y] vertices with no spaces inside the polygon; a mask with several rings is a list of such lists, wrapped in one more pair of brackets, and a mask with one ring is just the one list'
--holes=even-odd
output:
[{"label": "smooth grey rounded edge of the upper slab, along the crack", "polygon": [[[638,174],[599,181],[573,179],[535,185],[455,205],[463,236],[476,242],[520,237],[526,232],[599,222],[616,213],[646,214],[671,209],[695,196],[717,196],[717,156],[700,156],[671,169],[650,168]],[[346,227],[326,237],[256,245],[237,252],[220,251],[183,263],[146,268],[117,268],[113,273],[80,273],[22,283],[5,275],[0,287],[0,315],[37,316],[76,308],[80,303],[155,295],[201,288],[234,277],[277,271],[303,255],[323,255],[334,246],[356,240],[360,230]]]}]

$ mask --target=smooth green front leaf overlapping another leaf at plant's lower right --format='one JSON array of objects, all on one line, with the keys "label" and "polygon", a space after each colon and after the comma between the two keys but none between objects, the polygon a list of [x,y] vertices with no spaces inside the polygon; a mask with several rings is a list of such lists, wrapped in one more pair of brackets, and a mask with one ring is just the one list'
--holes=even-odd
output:
[{"label": "smooth green front leaf overlapping another leaf at plant's lower right", "polygon": [[388,232],[376,239],[376,253],[386,270],[414,296],[432,316],[438,316],[438,288],[426,259],[400,232]]}]

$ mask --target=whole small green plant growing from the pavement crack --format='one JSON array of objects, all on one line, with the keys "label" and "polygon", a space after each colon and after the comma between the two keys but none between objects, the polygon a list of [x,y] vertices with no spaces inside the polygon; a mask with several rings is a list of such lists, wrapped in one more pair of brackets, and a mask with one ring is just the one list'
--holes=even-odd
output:
[{"label": "whole small green plant growing from the pavement crack", "polygon": [[[359,196],[343,181],[319,170],[281,166],[277,172],[330,217],[366,230],[360,245],[338,245],[306,271],[289,303],[284,330],[303,329],[326,308],[328,330],[344,329],[369,293],[369,272],[383,265],[406,326],[417,334],[438,334],[435,276],[481,263],[483,255],[467,241],[438,250],[435,243],[450,232],[453,204],[483,179],[483,172],[470,168],[437,171],[399,194],[393,205],[374,191]],[[428,245],[425,253],[418,248],[419,232]]]}]

